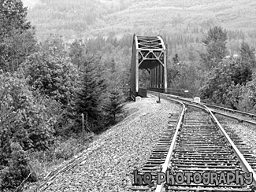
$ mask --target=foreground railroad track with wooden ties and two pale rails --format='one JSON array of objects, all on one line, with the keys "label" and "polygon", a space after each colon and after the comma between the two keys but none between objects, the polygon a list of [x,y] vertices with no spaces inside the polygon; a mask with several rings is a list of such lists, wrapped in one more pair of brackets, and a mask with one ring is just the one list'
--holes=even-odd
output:
[{"label": "foreground railroad track with wooden ties and two pale rails", "polygon": [[185,113],[180,104],[182,113],[172,116],[149,160],[134,175],[135,183],[138,174],[144,175],[143,186],[132,190],[254,191],[256,157],[243,141],[231,131],[227,134],[205,105],[186,104]]}]

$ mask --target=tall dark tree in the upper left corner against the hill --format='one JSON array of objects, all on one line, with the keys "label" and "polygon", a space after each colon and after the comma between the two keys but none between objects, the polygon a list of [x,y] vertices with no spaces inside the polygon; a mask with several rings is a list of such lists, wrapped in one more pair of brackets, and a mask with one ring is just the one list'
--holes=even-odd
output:
[{"label": "tall dark tree in the upper left corner against the hill", "polygon": [[0,69],[5,72],[16,71],[36,49],[34,32],[26,15],[27,9],[21,1],[0,1]]}]

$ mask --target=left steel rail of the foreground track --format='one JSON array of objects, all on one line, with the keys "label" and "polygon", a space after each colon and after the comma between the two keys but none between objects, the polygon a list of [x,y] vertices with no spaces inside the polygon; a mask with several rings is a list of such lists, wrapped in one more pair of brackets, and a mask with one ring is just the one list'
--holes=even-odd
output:
[{"label": "left steel rail of the foreground track", "polygon": [[[165,158],[165,163],[162,164],[162,167],[161,167],[161,172],[163,172],[163,173],[165,173],[167,171],[169,161],[170,161],[170,159],[173,155],[173,150],[174,150],[174,147],[175,147],[175,144],[176,144],[176,138],[177,138],[178,133],[180,131],[180,127],[181,127],[182,121],[184,120],[184,114],[185,114],[185,111],[186,111],[186,106],[184,105],[184,103],[179,102],[179,101],[174,101],[174,102],[178,102],[178,103],[180,103],[180,105],[183,105],[183,109],[182,109],[182,112],[180,113],[179,121],[176,125],[176,131],[175,131],[175,134],[173,135],[173,140],[172,140],[171,146],[170,146],[169,151],[167,153],[167,156]],[[157,185],[157,188],[156,188],[155,191],[156,192],[164,191],[164,184],[165,183],[161,183],[160,185]]]}]

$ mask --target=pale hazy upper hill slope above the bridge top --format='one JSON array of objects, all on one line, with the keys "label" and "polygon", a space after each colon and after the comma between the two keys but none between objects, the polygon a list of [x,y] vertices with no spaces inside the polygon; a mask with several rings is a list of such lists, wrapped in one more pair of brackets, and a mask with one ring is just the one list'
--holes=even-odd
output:
[{"label": "pale hazy upper hill slope above the bridge top", "polygon": [[39,39],[50,33],[65,39],[196,33],[216,24],[253,34],[255,10],[253,0],[40,0],[29,9],[28,20],[36,26]]}]

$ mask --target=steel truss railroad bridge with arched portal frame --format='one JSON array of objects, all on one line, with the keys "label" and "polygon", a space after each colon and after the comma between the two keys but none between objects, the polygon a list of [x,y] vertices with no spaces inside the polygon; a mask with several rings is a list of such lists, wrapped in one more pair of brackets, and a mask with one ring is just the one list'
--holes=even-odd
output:
[{"label": "steel truss railroad bridge with arched portal frame", "polygon": [[161,36],[133,36],[131,96],[145,97],[144,87],[139,87],[139,69],[150,74],[150,90],[167,91],[167,49]]}]

